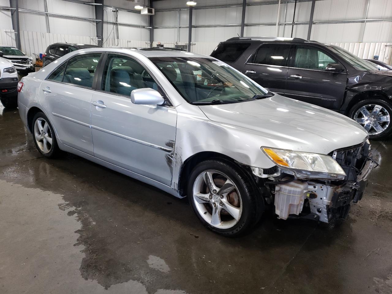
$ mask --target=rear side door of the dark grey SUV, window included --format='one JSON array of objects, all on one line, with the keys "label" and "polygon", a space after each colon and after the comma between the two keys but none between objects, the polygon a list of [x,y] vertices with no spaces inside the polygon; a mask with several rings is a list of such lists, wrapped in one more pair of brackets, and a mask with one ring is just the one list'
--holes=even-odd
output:
[{"label": "rear side door of the dark grey SUV, window included", "polygon": [[284,93],[290,46],[282,43],[260,45],[245,64],[243,73],[272,92]]}]

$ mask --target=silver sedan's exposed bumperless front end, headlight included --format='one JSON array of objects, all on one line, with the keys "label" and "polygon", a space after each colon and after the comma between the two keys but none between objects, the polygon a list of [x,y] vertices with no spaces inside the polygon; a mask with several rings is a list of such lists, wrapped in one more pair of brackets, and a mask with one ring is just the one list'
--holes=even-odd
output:
[{"label": "silver sedan's exposed bumperless front end, headlight included", "polygon": [[[278,158],[274,158],[275,154]],[[252,171],[254,174],[258,173],[256,175],[260,179],[260,186],[267,188],[266,202],[274,203],[278,218],[284,220],[310,218],[329,223],[334,219],[345,219],[350,203],[361,200],[367,187],[368,174],[374,166],[368,140],[356,146],[335,150],[328,154],[328,160],[326,155],[320,155],[323,157],[317,161],[306,157],[306,154],[299,154],[302,160],[308,160],[312,165],[312,171],[285,166],[289,165],[286,162],[295,160],[299,161],[295,163],[297,166],[303,165],[298,156],[290,155],[291,158],[287,158],[282,152],[279,153],[279,150],[275,154],[269,154],[269,157],[278,163],[276,169],[272,170],[273,174],[267,174],[265,170],[260,173],[260,170],[255,168],[252,168]],[[340,169],[334,166],[335,163]],[[332,172],[327,174],[323,169],[330,169]],[[319,174],[315,170],[318,170]]]}]

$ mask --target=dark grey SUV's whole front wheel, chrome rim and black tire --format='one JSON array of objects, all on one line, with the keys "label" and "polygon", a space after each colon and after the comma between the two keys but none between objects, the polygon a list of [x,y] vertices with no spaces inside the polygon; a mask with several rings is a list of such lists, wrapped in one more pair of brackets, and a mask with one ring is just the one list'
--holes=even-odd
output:
[{"label": "dark grey SUV's whole front wheel, chrome rim and black tire", "polygon": [[349,113],[350,118],[362,125],[372,140],[382,140],[391,134],[391,115],[392,104],[382,98],[359,101]]}]

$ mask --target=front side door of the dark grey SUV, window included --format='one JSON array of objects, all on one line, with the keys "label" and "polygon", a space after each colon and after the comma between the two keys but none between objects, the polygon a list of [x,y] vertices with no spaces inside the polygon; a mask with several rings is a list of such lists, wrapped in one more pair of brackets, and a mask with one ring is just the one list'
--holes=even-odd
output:
[{"label": "front side door of the dark grey SUV, window included", "polygon": [[345,95],[347,71],[326,71],[339,63],[326,51],[310,45],[296,45],[287,75],[285,96],[339,109]]}]

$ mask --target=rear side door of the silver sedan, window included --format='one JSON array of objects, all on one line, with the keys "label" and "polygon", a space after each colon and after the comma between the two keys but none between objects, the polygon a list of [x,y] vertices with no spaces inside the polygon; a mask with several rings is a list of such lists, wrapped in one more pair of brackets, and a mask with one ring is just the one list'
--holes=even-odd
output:
[{"label": "rear side door of the silver sedan, window included", "polygon": [[79,54],[41,83],[40,102],[65,145],[93,155],[90,103],[101,53]]}]

